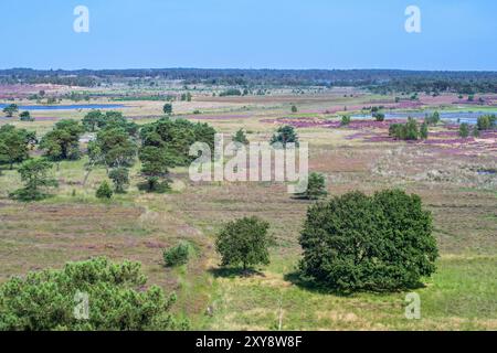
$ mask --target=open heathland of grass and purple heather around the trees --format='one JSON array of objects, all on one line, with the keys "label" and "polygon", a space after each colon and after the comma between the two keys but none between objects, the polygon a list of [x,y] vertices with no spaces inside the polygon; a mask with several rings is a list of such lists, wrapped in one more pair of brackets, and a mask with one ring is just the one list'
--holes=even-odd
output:
[{"label": "open heathland of grass and purple heather around the trees", "polygon": [[[4,96],[9,89],[2,86],[0,93]],[[175,117],[209,122],[226,137],[244,128],[251,141],[267,141],[281,125],[296,127],[300,140],[309,142],[310,170],[326,175],[331,195],[392,186],[420,194],[433,212],[441,252],[436,274],[416,289],[421,320],[405,319],[405,292],[338,296],[299,281],[298,236],[310,202],[293,199],[283,183],[199,184],[189,180],[188,169],[177,168],[170,192],[147,194],[136,188],[136,164],[129,192],[103,202],[95,190],[106,179],[104,169],[93,171],[83,186],[87,157],[61,162],[53,171],[60,188],[36,203],[9,200],[20,179],[15,170],[2,170],[0,281],[105,255],[141,261],[148,284],[177,292],[175,310],[188,317],[193,329],[277,330],[282,318],[284,330],[497,330],[497,132],[462,140],[457,126],[447,124],[433,128],[427,141],[403,142],[388,137],[388,121],[340,126],[342,114],[379,105],[393,113],[497,110],[497,96],[487,95],[485,101],[475,108],[447,94],[395,103],[394,96],[335,88],[241,97],[199,92],[192,101],[173,103]],[[140,125],[160,117],[163,106],[154,100],[118,103],[126,107],[117,110]],[[290,113],[292,105],[297,113]],[[85,113],[40,110],[32,114],[33,122],[1,117],[0,125],[43,136],[57,120],[82,119]],[[277,240],[271,265],[248,277],[221,269],[213,246],[223,223],[244,215],[269,222]],[[165,268],[162,249],[180,240],[194,246],[194,258],[187,266]]]}]

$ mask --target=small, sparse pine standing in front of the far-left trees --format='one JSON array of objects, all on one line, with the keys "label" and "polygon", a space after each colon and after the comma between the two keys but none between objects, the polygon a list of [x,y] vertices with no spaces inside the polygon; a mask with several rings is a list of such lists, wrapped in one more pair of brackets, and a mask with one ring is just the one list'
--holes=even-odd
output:
[{"label": "small, sparse pine standing in front of the far-left trees", "polygon": [[11,199],[19,201],[39,201],[47,196],[46,188],[56,188],[57,181],[49,175],[52,163],[38,158],[24,161],[18,169],[24,188],[10,194]]}]

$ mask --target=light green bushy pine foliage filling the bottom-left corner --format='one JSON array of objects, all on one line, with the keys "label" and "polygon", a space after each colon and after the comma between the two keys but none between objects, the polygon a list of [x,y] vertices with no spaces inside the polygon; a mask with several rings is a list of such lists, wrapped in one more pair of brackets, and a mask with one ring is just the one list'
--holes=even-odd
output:
[{"label": "light green bushy pine foliage filling the bottom-left corner", "polygon": [[139,263],[112,264],[106,258],[15,277],[0,287],[0,330],[187,329],[169,313],[175,295],[166,297],[156,286],[144,289],[146,281]]}]

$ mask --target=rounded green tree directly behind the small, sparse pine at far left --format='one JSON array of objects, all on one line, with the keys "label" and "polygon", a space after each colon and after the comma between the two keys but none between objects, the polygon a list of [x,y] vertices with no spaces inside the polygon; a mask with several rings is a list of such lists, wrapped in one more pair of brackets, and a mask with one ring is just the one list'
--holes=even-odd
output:
[{"label": "rounded green tree directly behind the small, sparse pine at far left", "polygon": [[61,120],[42,138],[40,149],[52,161],[80,159],[80,136],[83,132],[83,126],[78,121]]}]

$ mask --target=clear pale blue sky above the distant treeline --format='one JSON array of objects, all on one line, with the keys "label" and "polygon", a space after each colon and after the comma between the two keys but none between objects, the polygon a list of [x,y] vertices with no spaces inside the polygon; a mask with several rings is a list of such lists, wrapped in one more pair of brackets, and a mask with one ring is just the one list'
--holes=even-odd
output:
[{"label": "clear pale blue sky above the distant treeline", "polygon": [[[73,10],[89,9],[89,33]],[[422,33],[404,30],[405,8]],[[1,0],[0,68],[497,71],[495,0]]]}]

